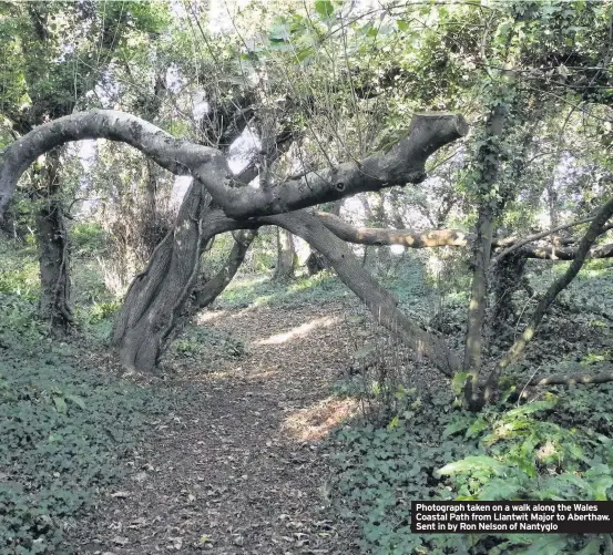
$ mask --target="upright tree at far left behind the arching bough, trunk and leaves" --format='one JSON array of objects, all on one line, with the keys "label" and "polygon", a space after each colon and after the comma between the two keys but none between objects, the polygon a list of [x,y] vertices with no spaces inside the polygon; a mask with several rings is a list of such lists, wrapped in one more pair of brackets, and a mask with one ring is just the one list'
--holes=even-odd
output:
[{"label": "upright tree at far left behind the arching bough, trunk and leaves", "polygon": [[[8,55],[0,68],[0,101],[12,131],[23,135],[86,104],[85,93],[125,49],[126,39],[140,29],[159,29],[163,19],[163,9],[129,1],[113,3],[104,13],[70,2],[3,2],[0,43]],[[40,204],[35,227],[41,315],[57,325],[53,329],[65,331],[73,316],[60,151],[49,153],[32,177],[30,194]]]}]

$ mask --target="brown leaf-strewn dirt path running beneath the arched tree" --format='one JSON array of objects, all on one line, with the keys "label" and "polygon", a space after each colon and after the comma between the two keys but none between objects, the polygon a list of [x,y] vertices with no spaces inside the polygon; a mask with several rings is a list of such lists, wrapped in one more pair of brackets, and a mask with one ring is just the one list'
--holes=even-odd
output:
[{"label": "brown leaf-strewn dirt path running beneath the arched tree", "polygon": [[210,311],[203,325],[247,347],[215,373],[196,362],[168,386],[188,409],[154,423],[129,479],[71,532],[82,554],[349,554],[326,485],[330,398],[346,361],[340,304]]}]

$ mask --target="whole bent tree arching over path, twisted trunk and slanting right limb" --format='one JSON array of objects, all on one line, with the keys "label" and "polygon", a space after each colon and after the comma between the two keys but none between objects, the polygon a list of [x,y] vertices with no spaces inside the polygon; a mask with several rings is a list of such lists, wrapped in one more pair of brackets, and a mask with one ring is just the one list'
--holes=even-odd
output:
[{"label": "whole bent tree arching over path, twisted trunk and slanting right limb", "polygon": [[125,113],[91,111],[41,125],[2,152],[0,208],[8,203],[23,171],[42,153],[68,141],[94,137],[122,141],[173,173],[191,173],[194,183],[185,196],[176,226],[156,247],[149,267],[132,282],[115,325],[113,342],[129,369],[155,368],[165,340],[195,286],[202,250],[214,235],[278,220],[277,225],[302,236],[323,253],[382,323],[390,328],[399,325],[413,347],[451,372],[453,357],[440,339],[401,315],[389,294],[367,275],[338,239],[331,240],[331,233],[315,216],[299,212],[300,219],[298,214],[268,220],[266,217],[386,185],[419,183],[425,178],[428,156],[466,132],[467,125],[460,116],[418,115],[407,136],[386,153],[372,154],[359,164],[347,162],[313,172],[270,189],[253,189],[235,182],[225,157],[214,148],[176,140]]}]

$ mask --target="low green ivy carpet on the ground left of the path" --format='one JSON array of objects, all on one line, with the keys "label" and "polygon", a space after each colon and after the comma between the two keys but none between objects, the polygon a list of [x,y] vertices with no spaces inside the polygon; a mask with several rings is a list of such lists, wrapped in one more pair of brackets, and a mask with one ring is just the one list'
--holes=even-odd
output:
[{"label": "low green ivy carpet on the ground left of the path", "polygon": [[58,553],[63,527],[121,477],[146,421],[167,411],[160,393],[65,360],[49,347],[0,363],[2,554]]}]

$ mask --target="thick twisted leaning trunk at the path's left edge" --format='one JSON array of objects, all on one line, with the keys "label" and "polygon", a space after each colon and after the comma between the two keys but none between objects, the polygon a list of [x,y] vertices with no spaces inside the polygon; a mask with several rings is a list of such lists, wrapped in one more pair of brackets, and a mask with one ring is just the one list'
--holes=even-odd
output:
[{"label": "thick twisted leaning trunk at the path's left edge", "polygon": [[204,246],[214,235],[236,227],[221,210],[212,209],[211,196],[194,179],[174,229],[130,286],[118,315],[112,342],[126,370],[155,369],[195,286]]}]

